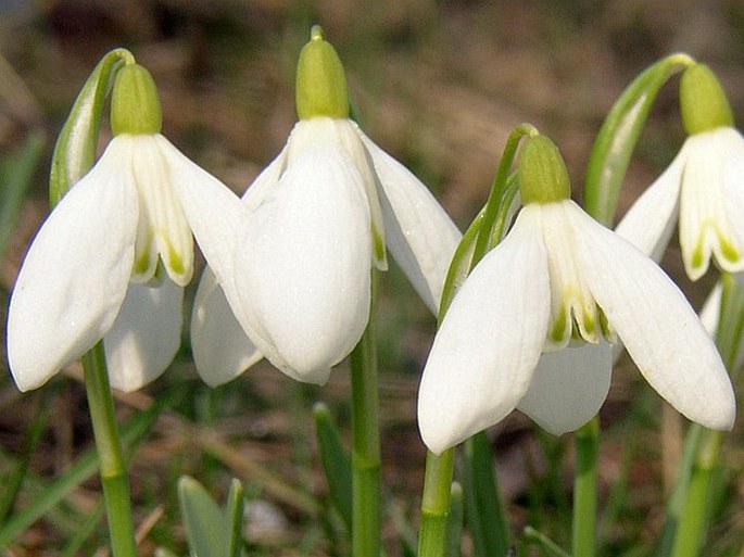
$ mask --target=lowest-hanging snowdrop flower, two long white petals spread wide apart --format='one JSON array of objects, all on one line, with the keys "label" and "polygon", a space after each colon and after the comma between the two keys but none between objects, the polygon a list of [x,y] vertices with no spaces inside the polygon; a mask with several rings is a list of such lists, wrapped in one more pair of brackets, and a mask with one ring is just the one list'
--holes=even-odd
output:
[{"label": "lowest-hanging snowdrop flower, two long white petals spread wide apart", "polygon": [[731,428],[729,377],[673,282],[569,199],[548,139],[527,141],[517,172],[525,206],[455,295],[424,369],[427,446],[441,453],[516,407],[554,433],[579,428],[604,402],[618,338],[678,410]]}]

